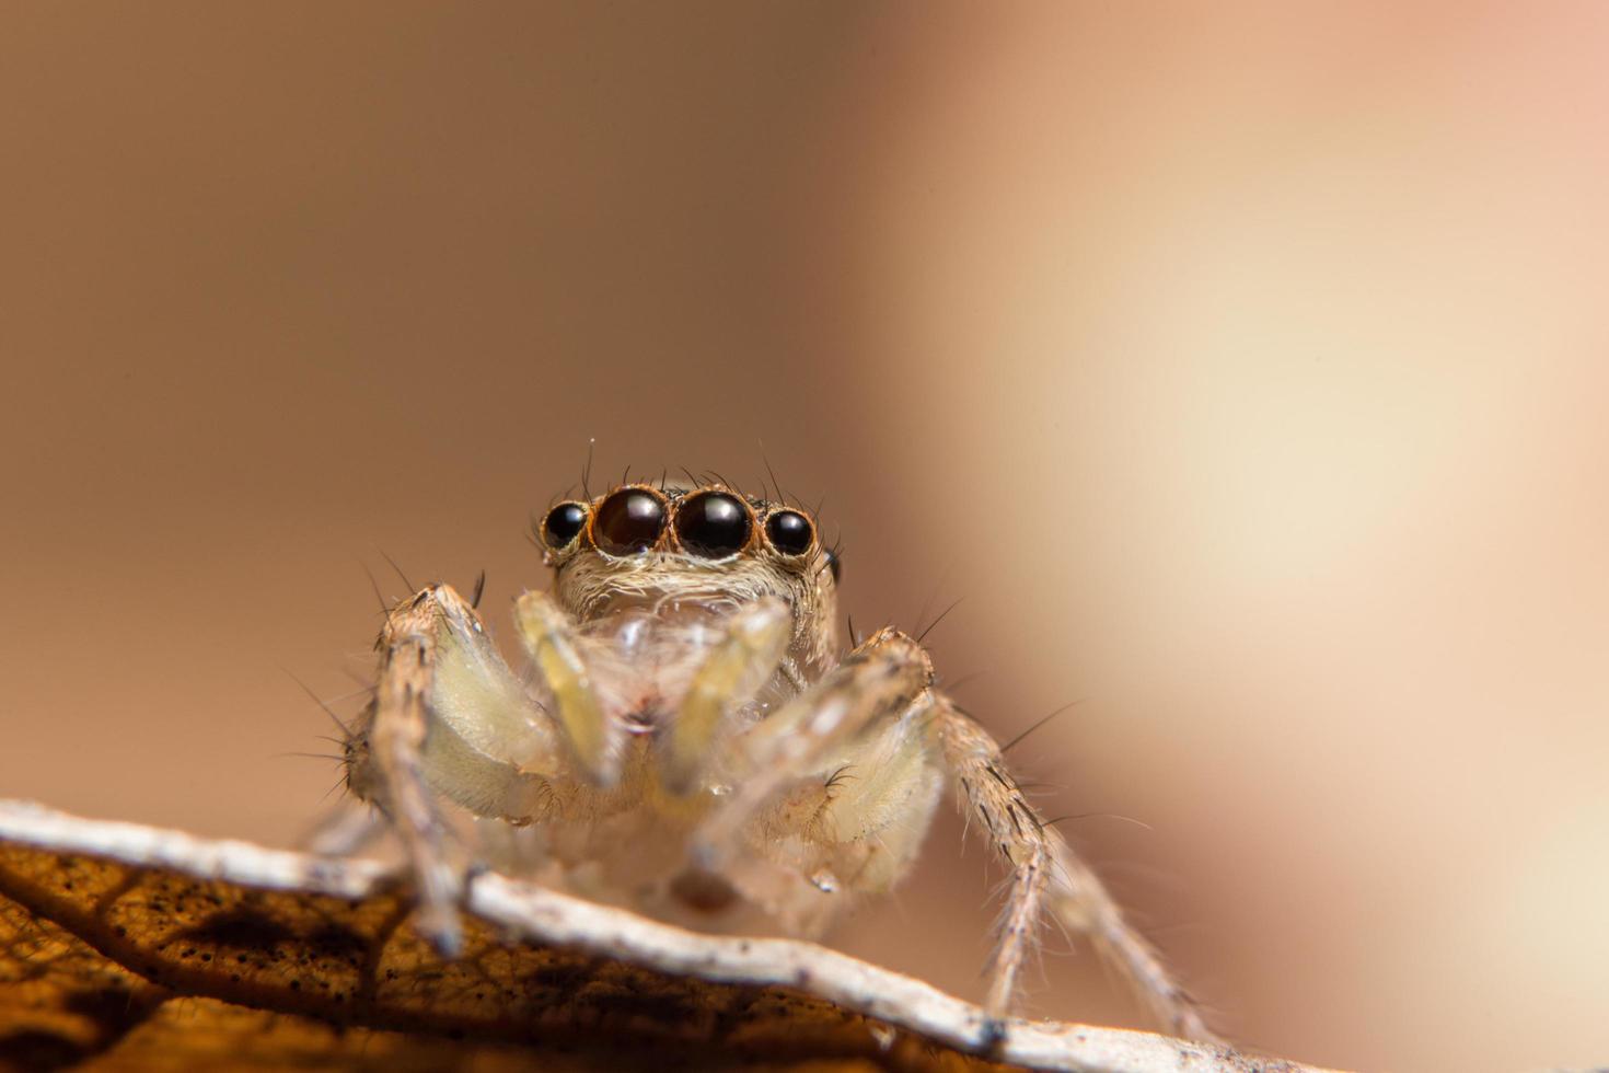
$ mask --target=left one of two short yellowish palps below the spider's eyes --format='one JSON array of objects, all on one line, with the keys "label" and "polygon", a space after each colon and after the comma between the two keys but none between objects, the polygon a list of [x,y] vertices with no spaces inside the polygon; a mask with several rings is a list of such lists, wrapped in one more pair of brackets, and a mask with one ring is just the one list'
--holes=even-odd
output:
[{"label": "left one of two short yellowish palps below the spider's eyes", "polygon": [[547,685],[576,763],[600,787],[619,777],[621,730],[603,714],[574,623],[545,592],[515,602],[515,626]]}]

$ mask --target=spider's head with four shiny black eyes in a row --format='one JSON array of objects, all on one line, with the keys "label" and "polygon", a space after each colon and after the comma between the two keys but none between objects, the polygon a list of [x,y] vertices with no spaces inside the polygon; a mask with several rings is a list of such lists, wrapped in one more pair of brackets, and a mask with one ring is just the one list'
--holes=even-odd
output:
[{"label": "spider's head with four shiny black eyes in a row", "polygon": [[795,648],[837,643],[838,555],[809,512],[726,484],[621,484],[563,500],[534,523],[555,594],[589,621],[626,608],[722,611],[763,597],[793,608]]}]

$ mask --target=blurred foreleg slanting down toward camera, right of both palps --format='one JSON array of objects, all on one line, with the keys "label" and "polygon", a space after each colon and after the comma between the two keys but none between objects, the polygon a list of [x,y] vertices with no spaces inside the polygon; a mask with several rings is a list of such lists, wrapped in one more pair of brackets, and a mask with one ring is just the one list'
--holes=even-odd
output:
[{"label": "blurred foreleg slanting down toward camera, right of both palps", "polygon": [[920,703],[933,679],[927,653],[891,629],[874,634],[813,689],[735,743],[737,793],[693,835],[693,862],[716,870],[740,851],[743,827],[788,783],[814,774],[837,746]]}]

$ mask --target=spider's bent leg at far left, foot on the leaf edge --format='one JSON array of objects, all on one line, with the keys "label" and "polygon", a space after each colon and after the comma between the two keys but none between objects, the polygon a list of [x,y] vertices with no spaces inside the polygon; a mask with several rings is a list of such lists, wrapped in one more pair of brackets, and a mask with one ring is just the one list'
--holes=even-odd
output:
[{"label": "spider's bent leg at far left, foot on the leaf edge", "polygon": [[529,822],[560,763],[555,734],[451,586],[396,605],[375,647],[375,698],[346,745],[346,783],[391,819],[418,888],[417,927],[455,954],[462,869],[447,859],[431,791]]}]

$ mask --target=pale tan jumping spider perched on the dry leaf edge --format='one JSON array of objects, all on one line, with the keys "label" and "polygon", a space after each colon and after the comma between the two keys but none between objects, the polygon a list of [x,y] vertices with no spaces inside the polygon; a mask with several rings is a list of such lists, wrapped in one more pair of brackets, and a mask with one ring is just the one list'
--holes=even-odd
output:
[{"label": "pale tan jumping spider perched on the dry leaf edge", "polygon": [[[840,561],[811,512],[726,481],[623,483],[533,526],[552,592],[515,600],[515,674],[475,608],[431,584],[386,613],[346,785],[401,837],[415,922],[460,944],[446,798],[528,827],[545,880],[700,928],[816,936],[909,870],[948,788],[1010,878],[985,1010],[1004,1018],[1049,914],[1089,936],[1160,1025],[1204,1018],[1001,746],[893,627],[848,652]],[[621,894],[624,891],[624,894]]]}]

